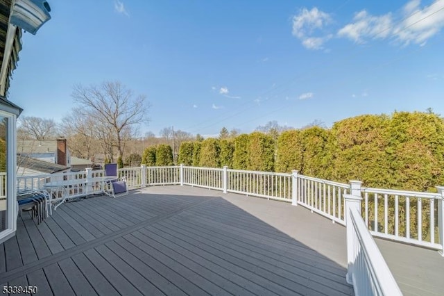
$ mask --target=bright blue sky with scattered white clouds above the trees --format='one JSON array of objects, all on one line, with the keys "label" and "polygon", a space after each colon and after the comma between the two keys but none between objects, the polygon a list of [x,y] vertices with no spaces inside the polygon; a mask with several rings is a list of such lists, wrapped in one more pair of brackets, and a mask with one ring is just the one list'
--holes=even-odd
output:
[{"label": "bright blue sky with scattered white clouds above the trees", "polygon": [[444,115],[444,0],[49,3],[12,76],[24,115],[59,121],[74,84],[102,81],[145,94],[155,134]]}]

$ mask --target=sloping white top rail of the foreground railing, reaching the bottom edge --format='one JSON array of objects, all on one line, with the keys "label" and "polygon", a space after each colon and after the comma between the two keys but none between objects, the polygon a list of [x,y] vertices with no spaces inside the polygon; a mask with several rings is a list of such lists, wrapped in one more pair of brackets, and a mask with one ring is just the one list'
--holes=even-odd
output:
[{"label": "sloping white top rail of the foreground railing, reaching the bottom edge", "polygon": [[381,295],[402,295],[398,283],[396,283],[393,274],[388,269],[386,261],[384,261],[357,208],[350,208],[350,217],[364,254],[366,254],[367,258],[370,258],[367,263],[371,270],[370,272],[376,278],[375,284],[377,284],[377,289],[382,292]]}]

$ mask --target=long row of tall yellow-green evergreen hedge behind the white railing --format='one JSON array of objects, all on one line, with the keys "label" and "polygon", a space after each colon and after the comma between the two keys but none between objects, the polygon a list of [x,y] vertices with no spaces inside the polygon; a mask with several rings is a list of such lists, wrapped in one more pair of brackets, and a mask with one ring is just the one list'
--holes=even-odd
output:
[{"label": "long row of tall yellow-green evergreen hedge behind the white railing", "polygon": [[[162,153],[151,149],[147,164],[171,163],[170,157],[157,161]],[[351,117],[331,129],[283,131],[277,140],[256,131],[230,139],[182,142],[178,163],[266,172],[298,170],[343,183],[356,179],[367,187],[430,191],[444,184],[444,122],[434,113],[395,112]]]}]

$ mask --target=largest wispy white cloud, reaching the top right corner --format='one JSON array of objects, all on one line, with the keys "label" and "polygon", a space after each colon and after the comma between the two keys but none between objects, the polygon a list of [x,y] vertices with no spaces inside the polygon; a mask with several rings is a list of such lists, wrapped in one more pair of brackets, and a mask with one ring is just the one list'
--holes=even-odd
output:
[{"label": "largest wispy white cloud, reaching the top right corner", "polygon": [[352,23],[338,31],[338,36],[357,43],[392,38],[403,45],[414,43],[424,46],[429,38],[444,27],[444,1],[434,1],[429,6],[421,7],[420,0],[411,0],[397,18],[400,21],[391,13],[375,16],[361,10]]}]

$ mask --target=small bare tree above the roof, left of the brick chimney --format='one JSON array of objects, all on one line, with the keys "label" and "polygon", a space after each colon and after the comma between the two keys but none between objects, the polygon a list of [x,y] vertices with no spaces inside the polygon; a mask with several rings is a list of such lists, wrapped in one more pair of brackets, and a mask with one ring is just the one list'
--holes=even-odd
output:
[{"label": "small bare tree above the roof, left of the brick chimney", "polygon": [[18,119],[19,127],[17,135],[19,138],[31,140],[49,140],[56,138],[57,125],[52,119],[35,116],[22,116]]}]

